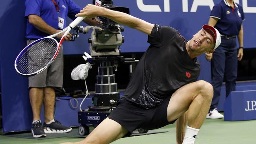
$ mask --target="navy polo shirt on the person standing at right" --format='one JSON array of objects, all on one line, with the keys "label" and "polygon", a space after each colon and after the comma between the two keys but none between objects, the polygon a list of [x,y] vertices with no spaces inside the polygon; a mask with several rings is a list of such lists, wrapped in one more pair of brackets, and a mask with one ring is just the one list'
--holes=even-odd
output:
[{"label": "navy polo shirt on the person standing at right", "polygon": [[226,0],[222,0],[211,10],[210,17],[219,19],[215,28],[222,35],[238,35],[241,24],[245,20],[243,7],[237,3],[234,3],[234,5],[233,9]]}]

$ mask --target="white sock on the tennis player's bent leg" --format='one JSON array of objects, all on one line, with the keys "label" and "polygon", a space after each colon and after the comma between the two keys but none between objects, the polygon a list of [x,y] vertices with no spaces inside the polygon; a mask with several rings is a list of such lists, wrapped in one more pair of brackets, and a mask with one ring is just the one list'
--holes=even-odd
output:
[{"label": "white sock on the tennis player's bent leg", "polygon": [[182,144],[194,144],[199,129],[187,126],[186,133]]}]

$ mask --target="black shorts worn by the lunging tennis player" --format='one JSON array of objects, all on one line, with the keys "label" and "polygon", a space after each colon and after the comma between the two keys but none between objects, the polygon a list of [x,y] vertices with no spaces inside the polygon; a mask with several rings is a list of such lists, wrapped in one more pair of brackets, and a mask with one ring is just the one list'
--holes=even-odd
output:
[{"label": "black shorts worn by the lunging tennis player", "polygon": [[121,124],[130,132],[129,134],[138,128],[158,129],[176,121],[167,121],[167,106],[170,98],[171,96],[160,105],[150,109],[139,107],[128,100],[121,99],[114,111],[109,114],[109,118]]}]

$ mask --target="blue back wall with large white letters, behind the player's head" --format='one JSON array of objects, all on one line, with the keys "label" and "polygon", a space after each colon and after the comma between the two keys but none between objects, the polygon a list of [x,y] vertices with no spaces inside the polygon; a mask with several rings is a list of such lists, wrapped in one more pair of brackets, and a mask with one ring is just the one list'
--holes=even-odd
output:
[{"label": "blue back wall with large white letters, behind the player's head", "polygon": [[[85,6],[85,0],[75,1],[80,6]],[[245,21],[243,23],[244,47],[255,48],[256,0],[235,1],[238,1],[245,11]],[[86,2],[88,2],[88,0],[86,0]],[[214,4],[221,2],[221,0],[113,0],[113,2],[116,6],[129,7],[130,14],[135,17],[153,24],[158,23],[160,25],[172,26],[186,39],[191,39],[193,35],[202,28],[203,24],[208,23],[212,7]],[[143,2],[145,6],[141,6],[142,3],[140,2]],[[153,6],[150,8],[148,5]],[[158,10],[157,8],[159,8],[158,12],[156,12]],[[125,42],[121,46],[122,52],[144,52],[148,47],[147,35],[137,30],[125,27],[122,35],[125,37]],[[66,42],[64,44],[64,54],[82,54],[84,51],[89,52],[89,44],[87,43],[89,36],[90,33],[86,35],[80,34],[80,37],[75,42],[76,44],[73,44],[74,42]]]}]

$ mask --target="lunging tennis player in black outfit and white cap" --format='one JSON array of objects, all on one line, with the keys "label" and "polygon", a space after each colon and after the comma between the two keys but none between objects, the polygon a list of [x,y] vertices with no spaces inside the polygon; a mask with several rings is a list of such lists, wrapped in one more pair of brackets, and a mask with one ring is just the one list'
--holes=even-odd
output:
[{"label": "lunging tennis player in black outfit and white cap", "polygon": [[91,4],[76,15],[81,16],[103,16],[139,30],[148,35],[150,46],[137,64],[117,107],[77,144],[108,144],[139,127],[156,129],[176,120],[177,144],[194,144],[213,97],[211,84],[197,81],[200,74],[197,56],[214,52],[221,43],[219,32],[204,25],[187,41],[169,26],[151,24]]}]

